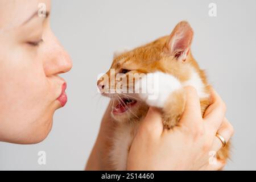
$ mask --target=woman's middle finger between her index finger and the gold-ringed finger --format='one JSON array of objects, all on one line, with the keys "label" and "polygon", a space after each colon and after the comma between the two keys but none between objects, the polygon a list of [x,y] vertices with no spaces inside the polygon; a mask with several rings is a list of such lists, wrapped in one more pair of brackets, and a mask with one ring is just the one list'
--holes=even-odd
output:
[{"label": "woman's middle finger between her index finger and the gold-ringed finger", "polygon": [[212,89],[212,104],[204,114],[204,121],[213,130],[217,131],[225,117],[226,106],[221,97]]}]

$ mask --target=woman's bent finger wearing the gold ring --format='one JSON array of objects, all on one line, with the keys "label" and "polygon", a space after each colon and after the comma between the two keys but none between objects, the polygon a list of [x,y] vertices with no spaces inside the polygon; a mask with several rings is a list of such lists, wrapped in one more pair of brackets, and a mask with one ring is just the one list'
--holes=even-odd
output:
[{"label": "woman's bent finger wearing the gold ring", "polygon": [[[218,134],[221,135],[226,140],[226,142],[228,142],[229,139],[233,136],[234,129],[233,126],[229,123],[228,119],[224,118],[220,129],[218,129]],[[212,150],[218,151],[222,148],[222,146],[223,144],[221,140],[215,137],[213,140]]]}]

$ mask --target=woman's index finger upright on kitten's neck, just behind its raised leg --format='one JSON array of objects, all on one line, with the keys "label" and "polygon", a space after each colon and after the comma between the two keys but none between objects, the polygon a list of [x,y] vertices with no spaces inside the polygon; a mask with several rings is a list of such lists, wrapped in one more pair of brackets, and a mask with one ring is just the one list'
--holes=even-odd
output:
[{"label": "woman's index finger upright on kitten's neck, just behind its raised leg", "polygon": [[186,86],[186,104],[180,123],[188,126],[197,126],[202,121],[200,100],[196,89],[192,86]]}]

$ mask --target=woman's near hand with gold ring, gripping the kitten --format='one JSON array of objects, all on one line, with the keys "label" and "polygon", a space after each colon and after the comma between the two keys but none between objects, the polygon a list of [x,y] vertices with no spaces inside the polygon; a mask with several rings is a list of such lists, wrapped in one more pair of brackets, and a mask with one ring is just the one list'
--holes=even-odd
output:
[{"label": "woman's near hand with gold ring, gripping the kitten", "polygon": [[226,107],[214,90],[212,104],[201,117],[197,92],[185,88],[187,103],[180,125],[163,129],[162,117],[150,108],[130,148],[129,170],[218,170],[225,163],[209,163],[211,151],[222,147],[218,132],[226,141],[233,135],[233,127],[225,118]]}]

